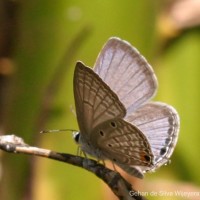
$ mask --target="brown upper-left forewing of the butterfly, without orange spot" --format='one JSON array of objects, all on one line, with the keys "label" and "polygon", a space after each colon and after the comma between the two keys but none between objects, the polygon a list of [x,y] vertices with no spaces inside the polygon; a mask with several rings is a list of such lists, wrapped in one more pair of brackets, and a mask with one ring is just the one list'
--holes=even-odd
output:
[{"label": "brown upper-left forewing of the butterfly, without orange spot", "polygon": [[74,98],[81,134],[90,134],[98,124],[126,114],[117,95],[81,62],[74,72]]}]

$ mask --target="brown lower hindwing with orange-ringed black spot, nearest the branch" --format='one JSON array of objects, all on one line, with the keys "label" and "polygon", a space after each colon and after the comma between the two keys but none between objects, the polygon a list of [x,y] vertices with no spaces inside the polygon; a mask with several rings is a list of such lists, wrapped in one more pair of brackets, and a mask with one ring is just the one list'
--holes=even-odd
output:
[{"label": "brown lower hindwing with orange-ringed black spot, nearest the branch", "polygon": [[131,166],[153,166],[147,138],[136,126],[123,119],[115,118],[98,125],[92,131],[91,143],[99,148],[102,157],[137,177],[141,178],[142,172]]}]

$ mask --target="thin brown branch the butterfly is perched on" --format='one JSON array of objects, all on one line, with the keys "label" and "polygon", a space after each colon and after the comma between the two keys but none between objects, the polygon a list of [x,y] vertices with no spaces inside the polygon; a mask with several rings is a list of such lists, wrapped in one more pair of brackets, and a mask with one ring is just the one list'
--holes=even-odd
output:
[{"label": "thin brown branch the butterfly is perched on", "polygon": [[102,179],[120,200],[145,199],[118,172],[106,168],[95,160],[29,146],[22,138],[15,135],[0,136],[0,149],[9,153],[23,153],[50,158],[84,168]]}]

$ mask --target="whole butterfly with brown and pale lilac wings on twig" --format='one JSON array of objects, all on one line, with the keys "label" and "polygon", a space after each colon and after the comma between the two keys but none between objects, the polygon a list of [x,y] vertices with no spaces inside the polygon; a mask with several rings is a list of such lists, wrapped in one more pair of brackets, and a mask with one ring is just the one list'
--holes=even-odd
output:
[{"label": "whole butterfly with brown and pale lilac wings on twig", "polygon": [[138,178],[166,164],[180,120],[172,106],[150,101],[157,86],[146,59],[117,37],[106,42],[93,69],[77,62],[73,87],[80,132],[74,139],[81,150]]}]

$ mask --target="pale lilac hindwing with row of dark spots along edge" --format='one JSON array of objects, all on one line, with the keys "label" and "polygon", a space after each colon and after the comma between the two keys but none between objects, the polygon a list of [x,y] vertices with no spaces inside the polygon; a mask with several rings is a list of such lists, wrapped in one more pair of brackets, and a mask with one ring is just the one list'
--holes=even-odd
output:
[{"label": "pale lilac hindwing with row of dark spots along edge", "polygon": [[154,155],[155,170],[168,162],[177,143],[180,120],[176,110],[160,102],[147,103],[125,118],[147,137]]}]

